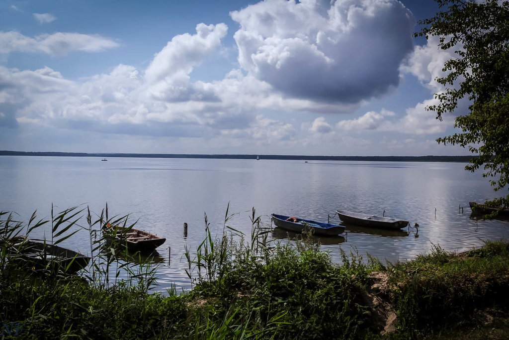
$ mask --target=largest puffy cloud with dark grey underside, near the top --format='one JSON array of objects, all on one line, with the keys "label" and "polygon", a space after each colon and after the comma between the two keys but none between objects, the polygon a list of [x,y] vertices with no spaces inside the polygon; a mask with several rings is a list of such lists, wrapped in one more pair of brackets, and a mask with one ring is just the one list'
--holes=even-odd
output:
[{"label": "largest puffy cloud with dark grey underside, near the top", "polygon": [[231,12],[245,70],[289,97],[356,103],[399,83],[414,19],[392,0],[266,0]]}]

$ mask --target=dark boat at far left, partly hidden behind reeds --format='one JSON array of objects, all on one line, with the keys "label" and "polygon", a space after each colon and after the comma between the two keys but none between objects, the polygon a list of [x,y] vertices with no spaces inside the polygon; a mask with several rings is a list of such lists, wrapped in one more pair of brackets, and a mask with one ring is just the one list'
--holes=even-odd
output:
[{"label": "dark boat at far left, partly hidden behind reeds", "polygon": [[27,239],[12,244],[10,259],[25,268],[75,274],[88,266],[90,257],[74,250]]}]

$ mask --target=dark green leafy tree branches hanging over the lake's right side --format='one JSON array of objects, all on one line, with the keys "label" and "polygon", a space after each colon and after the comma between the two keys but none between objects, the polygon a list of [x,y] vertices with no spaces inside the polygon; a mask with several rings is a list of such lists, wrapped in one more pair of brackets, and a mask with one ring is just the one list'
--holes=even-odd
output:
[{"label": "dark green leafy tree branches hanging over the lake's right side", "polygon": [[[427,109],[442,119],[458,108],[459,100],[470,100],[468,112],[457,112],[455,126],[462,133],[437,139],[458,144],[477,155],[466,166],[475,171],[484,166],[495,191],[509,183],[509,2],[486,0],[435,0],[440,12],[421,20],[425,25],[415,36],[439,37],[438,47],[458,58],[445,62],[437,82],[445,91]],[[495,203],[509,206],[509,195]]]}]

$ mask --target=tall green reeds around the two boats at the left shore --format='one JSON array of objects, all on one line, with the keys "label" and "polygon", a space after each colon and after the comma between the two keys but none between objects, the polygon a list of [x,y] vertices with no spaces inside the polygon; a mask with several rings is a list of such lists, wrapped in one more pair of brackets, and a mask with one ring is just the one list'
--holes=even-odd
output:
[{"label": "tall green reeds around the two boats at the left shore", "polygon": [[[81,221],[84,219],[86,224],[83,226]],[[64,273],[54,264],[58,259],[51,260],[50,256],[46,256],[49,247],[65,244],[70,238],[76,235],[80,230],[87,230],[89,234],[88,243],[90,247],[90,265],[81,271],[81,275],[86,278],[90,284],[95,287],[115,287],[120,284],[121,271],[126,272],[127,279],[122,282],[123,285],[129,287],[142,288],[148,292],[156,284],[157,266],[151,264],[150,257],[145,259],[139,258],[136,264],[133,261],[125,260],[129,258],[125,244],[121,241],[108,238],[103,232],[104,227],[108,225],[122,226],[122,232],[128,232],[137,221],[129,222],[129,215],[109,217],[108,206],[94,215],[90,208],[81,207],[79,205],[67,208],[62,211],[56,211],[56,207],[52,204],[50,211],[50,219],[37,219],[37,211],[35,211],[28,223],[24,224],[13,218],[12,213],[0,212],[0,265],[6,269],[8,265],[12,268],[23,267],[23,261],[27,262],[22,253],[26,247],[30,246],[30,242],[22,242],[23,239],[41,242],[43,244],[43,254],[48,259],[46,268],[42,271],[50,271],[59,268],[55,275]],[[46,226],[49,224],[49,238],[46,239]],[[37,236],[32,235],[37,231]],[[43,235],[41,238],[40,236]],[[17,243],[17,247],[13,247],[13,243]],[[131,258],[133,254],[130,254]],[[137,256],[134,254],[134,256]],[[10,259],[10,260],[9,260]],[[16,263],[13,259],[16,259]],[[71,263],[68,265],[72,265]],[[26,266],[25,266],[26,267]],[[31,268],[31,267],[30,267]],[[29,269],[30,269],[29,268]],[[6,270],[2,271],[4,275]]]}]

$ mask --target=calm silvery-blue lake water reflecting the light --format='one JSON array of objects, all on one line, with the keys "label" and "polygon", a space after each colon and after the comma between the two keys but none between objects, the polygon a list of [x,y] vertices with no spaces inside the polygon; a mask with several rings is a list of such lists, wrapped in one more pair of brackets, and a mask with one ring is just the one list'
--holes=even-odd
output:
[{"label": "calm silvery-blue lake water reflecting the light", "polygon": [[[194,250],[204,238],[204,213],[214,233],[224,215],[238,213],[229,225],[246,234],[249,215],[270,224],[270,214],[327,221],[335,210],[398,217],[419,224],[415,229],[384,232],[347,228],[342,237],[320,238],[323,250],[340,260],[338,249],[356,247],[391,262],[429,252],[432,244],[463,251],[483,240],[508,237],[509,222],[476,220],[469,201],[496,196],[481,173],[464,170],[464,163],[341,162],[277,160],[213,160],[0,156],[0,211],[12,211],[28,221],[74,205],[100,214],[108,203],[110,215],[130,214],[137,228],[166,238],[157,249],[163,261],[159,286],[188,289],[184,247]],[[507,194],[502,192],[501,195]],[[464,207],[463,212],[459,207]],[[337,217],[332,221],[339,222]],[[188,237],[183,225],[188,224]],[[86,221],[81,221],[86,225]],[[286,240],[275,229],[270,236]],[[286,241],[284,241],[286,242]],[[90,252],[88,232],[80,231],[64,246]],[[171,247],[171,259],[169,250]],[[168,264],[168,260],[169,264]]]}]

